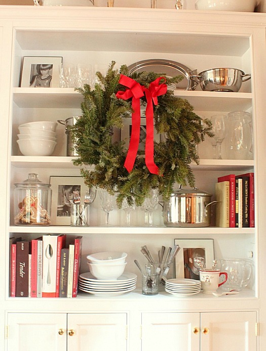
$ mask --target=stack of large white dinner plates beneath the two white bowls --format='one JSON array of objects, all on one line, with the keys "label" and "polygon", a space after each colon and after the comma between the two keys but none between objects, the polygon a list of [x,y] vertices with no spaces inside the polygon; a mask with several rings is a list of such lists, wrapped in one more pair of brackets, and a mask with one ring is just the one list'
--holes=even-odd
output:
[{"label": "stack of large white dinner plates beneath the two white bowls", "polygon": [[90,272],[82,273],[79,278],[79,290],[94,295],[121,295],[136,289],[137,275],[123,273],[116,280],[96,279]]}]

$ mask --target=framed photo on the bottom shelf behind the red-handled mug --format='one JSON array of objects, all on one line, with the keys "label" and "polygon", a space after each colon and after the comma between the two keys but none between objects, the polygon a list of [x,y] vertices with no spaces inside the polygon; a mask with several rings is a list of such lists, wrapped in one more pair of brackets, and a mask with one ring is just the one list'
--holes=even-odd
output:
[{"label": "framed photo on the bottom shelf behind the red-handled mug", "polygon": [[194,258],[200,260],[204,267],[211,268],[214,260],[213,239],[175,239],[175,244],[181,248],[175,257],[176,278],[200,280]]}]

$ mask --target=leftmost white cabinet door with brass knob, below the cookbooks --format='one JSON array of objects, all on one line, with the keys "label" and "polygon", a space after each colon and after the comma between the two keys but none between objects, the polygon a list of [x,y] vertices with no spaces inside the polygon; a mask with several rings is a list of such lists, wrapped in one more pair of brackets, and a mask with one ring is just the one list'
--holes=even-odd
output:
[{"label": "leftmost white cabinet door with brass knob, below the cookbooks", "polygon": [[66,314],[8,314],[7,351],[66,351],[66,340]]}]

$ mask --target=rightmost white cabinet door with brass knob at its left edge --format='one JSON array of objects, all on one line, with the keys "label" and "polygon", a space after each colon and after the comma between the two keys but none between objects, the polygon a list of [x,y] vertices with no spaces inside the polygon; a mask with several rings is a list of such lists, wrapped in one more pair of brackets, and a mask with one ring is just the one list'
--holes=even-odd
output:
[{"label": "rightmost white cabinet door with brass knob at its left edge", "polygon": [[201,313],[202,351],[256,351],[256,312]]}]

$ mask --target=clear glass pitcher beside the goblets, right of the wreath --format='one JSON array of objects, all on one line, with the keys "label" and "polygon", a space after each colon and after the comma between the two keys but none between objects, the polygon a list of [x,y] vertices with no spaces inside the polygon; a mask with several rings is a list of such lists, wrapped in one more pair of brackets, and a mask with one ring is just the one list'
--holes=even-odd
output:
[{"label": "clear glass pitcher beside the goblets, right of the wreath", "polygon": [[249,112],[230,112],[227,118],[227,158],[246,160],[252,158],[252,120]]}]

